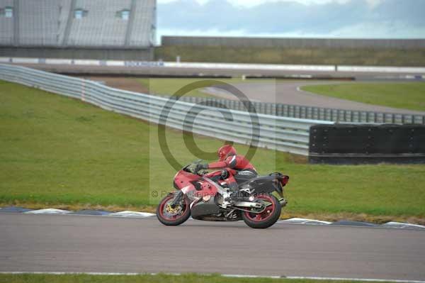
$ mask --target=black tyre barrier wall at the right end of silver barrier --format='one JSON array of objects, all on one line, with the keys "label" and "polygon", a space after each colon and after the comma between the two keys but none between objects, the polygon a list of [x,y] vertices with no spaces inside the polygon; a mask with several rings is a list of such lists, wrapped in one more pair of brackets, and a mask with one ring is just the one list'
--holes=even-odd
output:
[{"label": "black tyre barrier wall at the right end of silver barrier", "polygon": [[312,164],[425,163],[424,125],[316,125],[310,128]]}]

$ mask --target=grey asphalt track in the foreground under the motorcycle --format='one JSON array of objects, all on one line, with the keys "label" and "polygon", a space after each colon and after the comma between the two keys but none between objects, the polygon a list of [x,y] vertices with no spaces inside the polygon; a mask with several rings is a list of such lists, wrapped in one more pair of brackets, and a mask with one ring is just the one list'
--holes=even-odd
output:
[{"label": "grey asphalt track in the foreground under the motorcycle", "polygon": [[0,272],[220,272],[425,279],[425,232],[0,213]]}]

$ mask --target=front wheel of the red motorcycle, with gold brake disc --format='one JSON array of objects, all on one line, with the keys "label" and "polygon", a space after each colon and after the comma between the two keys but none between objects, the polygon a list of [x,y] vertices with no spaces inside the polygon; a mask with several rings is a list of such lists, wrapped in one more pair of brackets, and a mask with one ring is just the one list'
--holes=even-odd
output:
[{"label": "front wheel of the red motorcycle, with gold brake disc", "polygon": [[157,207],[157,218],[166,226],[178,226],[191,216],[190,204],[186,196],[174,208],[171,207],[173,199],[174,195],[168,195],[159,202]]}]

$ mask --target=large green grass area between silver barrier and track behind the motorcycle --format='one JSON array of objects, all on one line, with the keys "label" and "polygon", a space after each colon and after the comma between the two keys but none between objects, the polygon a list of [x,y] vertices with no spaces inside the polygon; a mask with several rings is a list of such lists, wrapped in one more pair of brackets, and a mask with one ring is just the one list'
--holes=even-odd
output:
[{"label": "large green grass area between silver barrier and track behind the motorcycle", "polygon": [[[156,125],[57,94],[0,81],[0,204],[140,207],[149,189],[171,190],[175,170]],[[196,160],[188,134],[167,130],[174,156]],[[222,140],[196,136],[214,152]],[[237,145],[244,154],[245,145]],[[206,155],[212,160],[214,154]],[[424,165],[308,165],[295,155],[259,149],[261,174],[290,175],[291,215],[366,213],[425,218]]]}]

